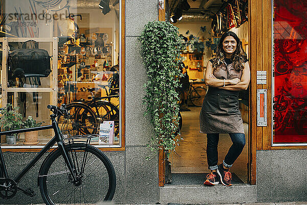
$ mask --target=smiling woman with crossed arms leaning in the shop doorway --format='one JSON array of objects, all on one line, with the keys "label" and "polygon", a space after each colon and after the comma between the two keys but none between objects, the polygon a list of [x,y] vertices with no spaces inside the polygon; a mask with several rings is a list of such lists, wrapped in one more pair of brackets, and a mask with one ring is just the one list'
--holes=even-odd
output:
[{"label": "smiling woman with crossed arms leaning in the shop doorway", "polygon": [[[248,60],[235,33],[228,31],[222,35],[216,55],[208,61],[205,82],[208,92],[200,113],[200,132],[207,134],[207,162],[211,173],[204,184],[217,185],[221,181],[223,185],[231,186],[229,168],[245,146],[238,94],[240,90],[246,90],[250,82]],[[223,163],[218,165],[220,133],[228,133],[233,144]]]}]

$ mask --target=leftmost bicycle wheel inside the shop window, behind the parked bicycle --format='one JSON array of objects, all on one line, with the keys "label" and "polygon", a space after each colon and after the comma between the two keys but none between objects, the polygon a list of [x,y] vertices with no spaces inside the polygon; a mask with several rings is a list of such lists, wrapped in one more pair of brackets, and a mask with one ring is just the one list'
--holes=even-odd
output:
[{"label": "leftmost bicycle wheel inside the shop window, behind the parked bicycle", "polygon": [[89,106],[72,103],[67,105],[66,109],[68,115],[60,116],[58,119],[61,131],[68,131],[71,135],[90,135],[98,132],[96,115]]}]

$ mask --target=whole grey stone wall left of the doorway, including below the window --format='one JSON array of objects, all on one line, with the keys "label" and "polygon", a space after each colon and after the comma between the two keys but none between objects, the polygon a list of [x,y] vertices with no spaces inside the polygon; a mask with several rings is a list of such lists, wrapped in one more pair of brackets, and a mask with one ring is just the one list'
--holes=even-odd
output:
[{"label": "whole grey stone wall left of the doorway, including below the window", "polygon": [[[159,201],[158,156],[146,147],[153,128],[144,117],[143,85],[147,80],[146,69],[140,54],[138,36],[143,27],[158,18],[158,0],[125,1],[125,151],[105,152],[112,161],[117,175],[115,203],[154,204]],[[4,154],[10,174],[25,167],[37,153]],[[146,160],[150,156],[151,160]],[[13,199],[0,199],[0,204],[42,203],[37,187],[37,173],[41,163],[20,182],[20,187],[31,187],[35,197],[18,193]]]}]

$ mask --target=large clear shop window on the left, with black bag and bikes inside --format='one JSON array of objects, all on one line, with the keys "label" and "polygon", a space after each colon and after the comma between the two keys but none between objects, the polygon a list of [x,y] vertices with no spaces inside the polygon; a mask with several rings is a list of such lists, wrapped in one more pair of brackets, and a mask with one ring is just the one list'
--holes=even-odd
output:
[{"label": "large clear shop window on the left, with black bag and bikes inside", "polygon": [[[1,47],[7,48],[1,106],[10,103],[23,120],[49,125],[47,105],[65,104],[69,117],[58,119],[65,137],[95,135],[97,147],[122,147],[121,1],[29,1],[22,7],[4,1],[0,24]],[[20,134],[13,147],[43,146],[52,136],[41,131],[25,145]]]}]

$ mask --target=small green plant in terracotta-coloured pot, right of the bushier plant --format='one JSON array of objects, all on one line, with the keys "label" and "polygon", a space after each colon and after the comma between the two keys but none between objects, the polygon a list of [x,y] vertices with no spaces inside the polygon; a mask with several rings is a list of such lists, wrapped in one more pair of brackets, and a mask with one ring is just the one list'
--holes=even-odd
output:
[{"label": "small green plant in terracotta-coloured pot, right of the bushier plant", "polygon": [[[31,115],[23,122],[23,128],[35,128],[41,126],[42,122],[36,123]],[[38,144],[38,131],[25,132],[24,145],[37,145]]]}]

